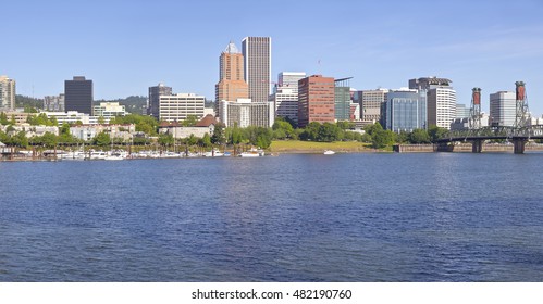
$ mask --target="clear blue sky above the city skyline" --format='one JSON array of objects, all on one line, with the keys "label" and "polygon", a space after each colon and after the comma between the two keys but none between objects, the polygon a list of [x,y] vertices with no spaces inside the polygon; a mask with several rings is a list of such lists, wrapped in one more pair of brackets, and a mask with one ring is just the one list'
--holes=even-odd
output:
[{"label": "clear blue sky above the city skyline", "polygon": [[[63,92],[94,80],[95,99],[174,92],[214,98],[219,55],[230,40],[272,37],[272,76],[282,71],[353,76],[356,89],[453,80],[458,102],[523,80],[543,113],[543,1],[5,1],[0,75],[17,93]],[[320,64],[319,64],[320,61]]]}]

